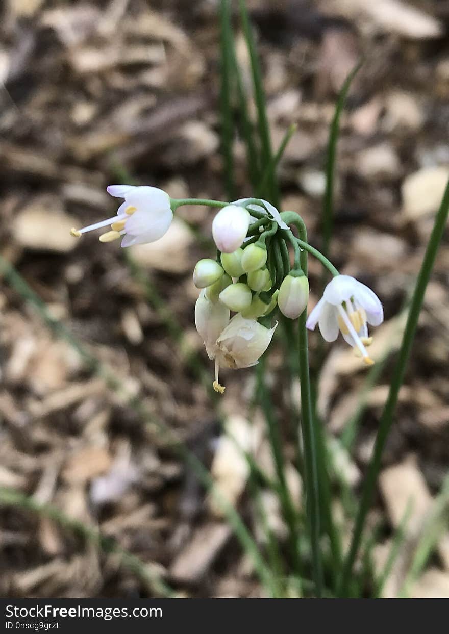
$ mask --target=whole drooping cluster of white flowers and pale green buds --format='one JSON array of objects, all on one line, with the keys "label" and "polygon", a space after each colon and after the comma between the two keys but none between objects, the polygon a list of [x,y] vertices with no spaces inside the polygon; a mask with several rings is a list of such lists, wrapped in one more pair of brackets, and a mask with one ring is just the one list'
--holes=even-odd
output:
[{"label": "whole drooping cluster of white flowers and pale green buds", "polygon": [[[277,322],[277,309],[296,320],[307,308],[308,278],[301,268],[301,249],[310,250],[334,278],[309,315],[306,327],[318,323],[326,341],[339,332],[367,365],[374,363],[367,353],[372,342],[368,324],[382,323],[382,304],[374,292],[334,266],[307,242],[296,238],[289,224],[302,223],[292,212],[282,214],[270,202],[244,198],[231,204],[212,200],[176,200],[155,187],[110,185],[108,193],[124,198],[117,215],[72,235],[110,226],[100,242],[122,237],[122,247],[155,242],[167,232],[173,211],[180,205],[204,204],[221,207],[212,223],[216,259],[201,259],[193,271],[200,289],[195,305],[195,325],[207,355],[215,361],[214,389],[223,393],[219,368],[248,368],[258,363],[270,345]],[[290,264],[289,245],[294,248]],[[231,316],[231,313],[233,315]]]}]

